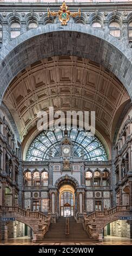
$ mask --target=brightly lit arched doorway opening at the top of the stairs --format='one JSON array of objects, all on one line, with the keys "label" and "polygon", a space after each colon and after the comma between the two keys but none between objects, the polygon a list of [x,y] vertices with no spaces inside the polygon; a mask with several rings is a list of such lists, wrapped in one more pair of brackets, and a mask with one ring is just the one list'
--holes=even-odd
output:
[{"label": "brightly lit arched doorway opening at the top of the stairs", "polygon": [[60,190],[60,216],[75,216],[75,189],[71,185],[63,185]]}]

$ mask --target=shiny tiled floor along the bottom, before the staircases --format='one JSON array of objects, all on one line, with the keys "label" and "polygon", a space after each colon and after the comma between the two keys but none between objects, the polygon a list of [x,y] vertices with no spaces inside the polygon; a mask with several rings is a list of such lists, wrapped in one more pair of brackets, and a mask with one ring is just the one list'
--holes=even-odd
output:
[{"label": "shiny tiled floor along the bottom, before the staircases", "polygon": [[32,242],[27,237],[17,237],[16,239],[8,239],[8,241],[0,241],[0,245],[132,245],[132,239],[123,237],[107,236],[102,242],[88,243],[44,243]]}]

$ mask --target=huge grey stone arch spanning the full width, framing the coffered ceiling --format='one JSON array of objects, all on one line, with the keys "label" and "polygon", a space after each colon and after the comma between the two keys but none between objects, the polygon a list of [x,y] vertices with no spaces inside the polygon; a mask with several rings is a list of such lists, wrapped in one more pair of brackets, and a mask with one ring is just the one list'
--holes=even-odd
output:
[{"label": "huge grey stone arch spanning the full width, framing the coffered ceiling", "polygon": [[130,48],[124,48],[121,42],[101,29],[73,23],[60,27],[57,23],[31,29],[12,40],[10,45],[7,42],[2,46],[0,99],[14,77],[28,65],[62,55],[89,58],[105,66],[123,83],[132,98]]}]

